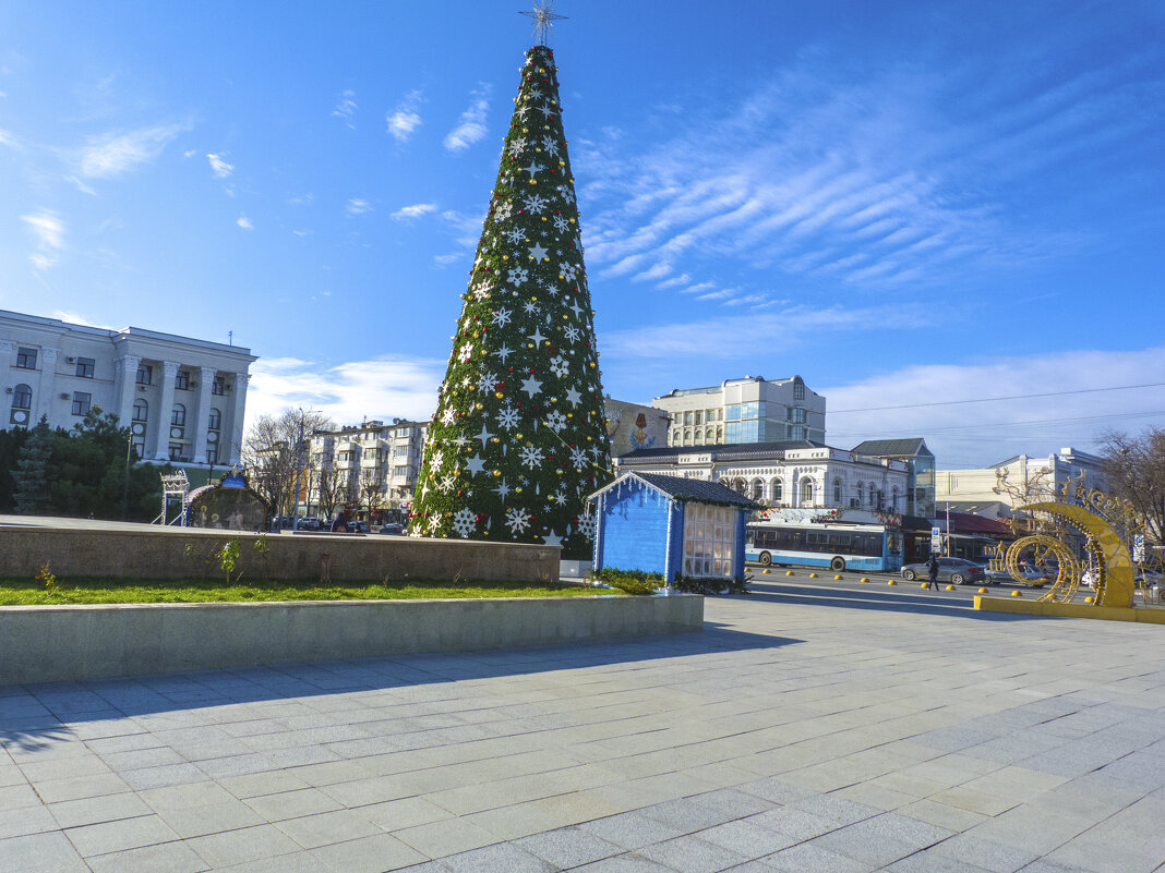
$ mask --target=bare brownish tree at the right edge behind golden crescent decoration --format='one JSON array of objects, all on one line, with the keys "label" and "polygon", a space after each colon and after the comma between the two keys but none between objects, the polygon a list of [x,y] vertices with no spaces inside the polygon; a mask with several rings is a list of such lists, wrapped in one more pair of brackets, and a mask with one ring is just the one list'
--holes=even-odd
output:
[{"label": "bare brownish tree at the right edge behind golden crescent decoration", "polygon": [[1150,427],[1139,436],[1110,431],[1100,454],[1109,494],[1141,517],[1148,540],[1165,544],[1165,427]]}]

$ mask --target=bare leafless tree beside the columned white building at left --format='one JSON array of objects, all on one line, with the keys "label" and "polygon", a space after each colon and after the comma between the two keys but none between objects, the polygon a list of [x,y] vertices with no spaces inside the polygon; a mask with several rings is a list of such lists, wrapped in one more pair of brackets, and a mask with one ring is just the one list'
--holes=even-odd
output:
[{"label": "bare leafless tree beside the columned white building at left", "polygon": [[291,514],[296,497],[296,462],[299,490],[311,481],[312,461],[308,452],[311,434],[336,430],[336,423],[323,412],[288,409],[278,416],[260,416],[242,441],[242,462],[250,487],[266,499],[271,510]]}]

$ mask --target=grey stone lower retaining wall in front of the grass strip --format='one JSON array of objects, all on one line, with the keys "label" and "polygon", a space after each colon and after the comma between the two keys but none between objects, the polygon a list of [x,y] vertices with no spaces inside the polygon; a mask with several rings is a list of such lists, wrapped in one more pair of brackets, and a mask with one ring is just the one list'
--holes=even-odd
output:
[{"label": "grey stone lower retaining wall in front of the grass strip", "polygon": [[648,637],[702,623],[694,595],[0,606],[0,684]]}]

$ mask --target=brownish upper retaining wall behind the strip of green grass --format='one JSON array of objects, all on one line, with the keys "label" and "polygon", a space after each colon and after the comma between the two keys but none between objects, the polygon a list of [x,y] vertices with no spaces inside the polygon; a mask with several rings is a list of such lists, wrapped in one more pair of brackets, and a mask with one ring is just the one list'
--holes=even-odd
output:
[{"label": "brownish upper retaining wall behind the strip of green grass", "polygon": [[[118,530],[0,527],[0,574],[33,577],[43,565],[59,577],[217,577],[221,572],[216,553],[231,539],[239,542],[243,581],[558,581],[559,549],[550,546],[377,534],[261,535],[149,525]],[[262,548],[256,549],[256,544]]]}]

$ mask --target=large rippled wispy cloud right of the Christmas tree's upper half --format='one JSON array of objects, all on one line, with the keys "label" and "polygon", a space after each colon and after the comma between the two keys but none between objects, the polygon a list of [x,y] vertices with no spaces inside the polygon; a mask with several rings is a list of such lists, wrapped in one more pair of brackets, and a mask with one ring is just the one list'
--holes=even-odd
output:
[{"label": "large rippled wispy cloud right of the Christmas tree's upper half", "polygon": [[635,137],[580,140],[587,263],[599,278],[682,290],[676,272],[715,279],[712,264],[729,257],[758,277],[860,289],[1075,254],[1081,234],[1023,225],[1030,210],[1011,203],[1067,155],[1144,141],[1153,119],[1125,108],[1163,85],[1129,85],[1137,63],[984,97],[969,65],[869,74],[809,52],[645,150]]}]

